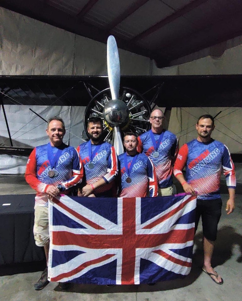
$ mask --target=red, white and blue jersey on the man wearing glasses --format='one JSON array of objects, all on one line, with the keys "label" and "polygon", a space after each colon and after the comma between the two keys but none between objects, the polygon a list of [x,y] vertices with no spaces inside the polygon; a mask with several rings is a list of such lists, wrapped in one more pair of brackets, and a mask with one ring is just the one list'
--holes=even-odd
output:
[{"label": "red, white and blue jersey on the man wearing glasses", "polygon": [[[143,152],[152,160],[158,179],[158,187],[166,188],[172,185],[172,165],[174,158],[178,153],[178,139],[176,135],[169,131],[165,131],[160,145],[157,147],[159,153],[158,158],[154,158],[156,151],[151,139],[150,131],[143,133],[138,137],[137,151]],[[154,134],[155,141],[158,141],[160,134]]]}]

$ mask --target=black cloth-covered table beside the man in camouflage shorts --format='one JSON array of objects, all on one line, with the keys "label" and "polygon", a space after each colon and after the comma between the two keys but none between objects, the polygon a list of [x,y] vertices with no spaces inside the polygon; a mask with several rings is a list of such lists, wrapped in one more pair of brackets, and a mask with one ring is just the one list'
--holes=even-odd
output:
[{"label": "black cloth-covered table beside the man in camouflage shorts", "polygon": [[0,196],[0,264],[45,259],[34,240],[34,198],[32,194]]}]

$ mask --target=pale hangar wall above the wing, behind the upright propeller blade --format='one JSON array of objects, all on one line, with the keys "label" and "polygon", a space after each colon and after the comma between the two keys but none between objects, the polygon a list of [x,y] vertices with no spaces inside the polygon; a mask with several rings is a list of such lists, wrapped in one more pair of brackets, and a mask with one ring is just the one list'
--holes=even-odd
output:
[{"label": "pale hangar wall above the wing, behind the upright propeller blade", "polygon": [[[0,7],[0,75],[107,75],[107,45]],[[151,75],[145,56],[119,49],[121,75]]]}]

